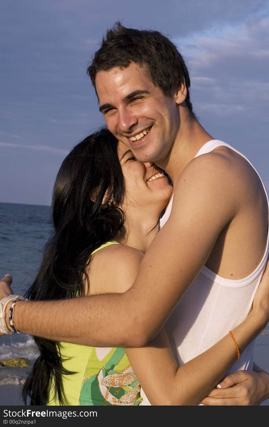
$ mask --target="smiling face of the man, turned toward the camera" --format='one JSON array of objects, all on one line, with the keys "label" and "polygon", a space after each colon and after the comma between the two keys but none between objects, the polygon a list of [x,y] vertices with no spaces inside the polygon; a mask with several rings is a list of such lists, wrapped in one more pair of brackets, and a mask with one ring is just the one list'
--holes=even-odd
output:
[{"label": "smiling face of the man, turned toward the camera", "polygon": [[110,132],[137,160],[162,166],[179,129],[176,95],[165,96],[152,83],[146,66],[134,62],[127,68],[99,71],[95,84]]}]

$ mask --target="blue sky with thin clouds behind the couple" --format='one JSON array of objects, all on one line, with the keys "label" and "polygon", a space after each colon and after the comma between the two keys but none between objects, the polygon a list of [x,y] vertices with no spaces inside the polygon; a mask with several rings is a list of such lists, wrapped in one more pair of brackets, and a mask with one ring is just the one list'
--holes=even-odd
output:
[{"label": "blue sky with thin clouds behind the couple", "polygon": [[0,16],[0,202],[50,204],[63,158],[103,124],[86,67],[116,20],[177,44],[200,123],[269,189],[268,1],[13,0]]}]

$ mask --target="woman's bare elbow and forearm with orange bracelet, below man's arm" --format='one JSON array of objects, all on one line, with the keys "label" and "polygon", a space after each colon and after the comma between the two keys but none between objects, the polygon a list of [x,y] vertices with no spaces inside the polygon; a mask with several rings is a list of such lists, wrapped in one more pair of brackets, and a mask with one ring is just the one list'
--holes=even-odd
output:
[{"label": "woman's bare elbow and forearm with orange bracelet, below man's arm", "polygon": [[[233,334],[242,352],[259,333],[260,316],[250,313]],[[152,405],[193,405],[206,396],[237,360],[229,333],[209,350],[178,367],[164,329],[143,348],[126,348],[132,368]],[[243,390],[242,390],[243,392]],[[255,394],[255,389],[250,388]],[[260,392],[262,397],[263,392]],[[238,394],[243,400],[245,395]],[[266,397],[265,397],[266,398]]]}]

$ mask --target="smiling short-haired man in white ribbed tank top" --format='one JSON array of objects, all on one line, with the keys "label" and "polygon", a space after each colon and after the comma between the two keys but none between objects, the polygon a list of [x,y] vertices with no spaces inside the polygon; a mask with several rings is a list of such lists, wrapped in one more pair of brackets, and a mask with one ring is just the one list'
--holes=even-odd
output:
[{"label": "smiling short-haired man in white ribbed tank top", "polygon": [[[156,336],[175,309],[168,333],[186,362],[249,312],[268,257],[265,190],[248,161],[216,142],[197,121],[186,65],[160,33],[118,23],[107,32],[88,73],[109,130],[139,161],[166,170],[174,197],[130,290],[65,301],[19,301],[14,323],[18,330],[57,341],[139,347]],[[9,293],[3,288],[0,296]],[[126,322],[114,325],[118,310]],[[252,353],[253,345],[232,372],[252,369]],[[259,394],[249,403],[267,398],[265,372],[237,373],[227,381],[233,385],[246,379],[254,381]]]}]

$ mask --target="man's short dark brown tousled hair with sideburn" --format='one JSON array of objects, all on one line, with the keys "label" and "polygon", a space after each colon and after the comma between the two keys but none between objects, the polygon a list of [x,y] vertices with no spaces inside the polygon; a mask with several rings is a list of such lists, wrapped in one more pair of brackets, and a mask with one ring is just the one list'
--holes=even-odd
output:
[{"label": "man's short dark brown tousled hair with sideburn", "polygon": [[131,62],[141,66],[146,64],[152,82],[166,96],[171,96],[185,81],[186,104],[195,116],[189,95],[189,72],[175,44],[158,31],[125,28],[119,21],[107,30],[100,49],[87,69],[95,91],[98,71],[108,71],[114,67],[127,68]]}]

